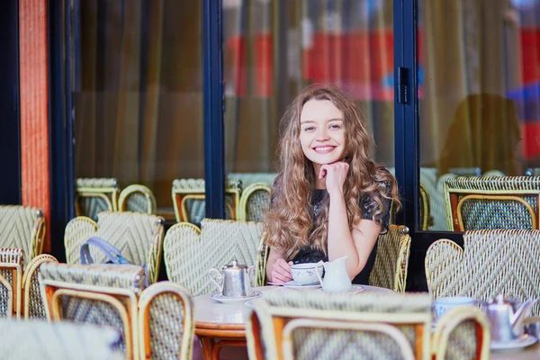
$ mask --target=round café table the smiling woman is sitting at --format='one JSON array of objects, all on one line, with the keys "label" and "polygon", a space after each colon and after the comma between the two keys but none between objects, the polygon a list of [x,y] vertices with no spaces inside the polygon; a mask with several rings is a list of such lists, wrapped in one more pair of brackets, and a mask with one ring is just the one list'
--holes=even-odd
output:
[{"label": "round caf\u00e9 table the smiling woman is sitting at", "polygon": [[[364,286],[361,293],[393,293],[382,287]],[[262,286],[253,289],[261,293],[298,292],[283,286]],[[263,295],[264,296],[264,295]],[[206,360],[219,359],[221,347],[246,347],[246,322],[251,308],[244,302],[221,303],[211,300],[210,295],[194,298],[195,335],[201,341],[202,356]]]}]

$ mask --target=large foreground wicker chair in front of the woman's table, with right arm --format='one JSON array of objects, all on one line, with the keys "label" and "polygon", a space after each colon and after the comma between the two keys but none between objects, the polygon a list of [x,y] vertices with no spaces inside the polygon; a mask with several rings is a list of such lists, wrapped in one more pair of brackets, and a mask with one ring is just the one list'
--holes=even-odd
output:
[{"label": "large foreground wicker chair in front of the woman's table, with right arm", "polygon": [[468,322],[472,331],[460,339],[478,338],[475,358],[489,358],[488,320],[474,307],[444,314],[431,338],[428,294],[272,292],[254,308],[246,329],[250,359],[457,359],[463,352],[449,331]]}]

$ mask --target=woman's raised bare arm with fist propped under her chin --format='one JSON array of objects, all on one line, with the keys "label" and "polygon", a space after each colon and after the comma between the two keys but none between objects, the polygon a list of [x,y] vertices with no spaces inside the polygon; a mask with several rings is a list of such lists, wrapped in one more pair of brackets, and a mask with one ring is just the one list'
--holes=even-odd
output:
[{"label": "woman's raised bare arm with fist propped under her chin", "polygon": [[321,166],[320,177],[326,177],[329,206],[329,260],[347,256],[347,273],[351,279],[364,269],[375,241],[381,232],[381,225],[374,220],[358,221],[353,230],[349,229],[347,204],[343,195],[343,184],[347,177],[348,164],[337,162]]}]

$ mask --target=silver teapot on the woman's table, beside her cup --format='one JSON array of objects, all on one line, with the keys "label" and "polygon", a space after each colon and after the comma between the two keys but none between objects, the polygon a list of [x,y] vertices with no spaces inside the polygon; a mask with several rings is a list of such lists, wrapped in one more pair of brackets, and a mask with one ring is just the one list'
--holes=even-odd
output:
[{"label": "silver teapot on the woman's table, beside her cup", "polygon": [[[221,267],[221,271],[212,267],[208,275],[224,298],[244,298],[252,293],[251,278],[254,270],[255,266],[238,265],[235,258],[231,264]],[[212,275],[215,275],[215,279]]]}]

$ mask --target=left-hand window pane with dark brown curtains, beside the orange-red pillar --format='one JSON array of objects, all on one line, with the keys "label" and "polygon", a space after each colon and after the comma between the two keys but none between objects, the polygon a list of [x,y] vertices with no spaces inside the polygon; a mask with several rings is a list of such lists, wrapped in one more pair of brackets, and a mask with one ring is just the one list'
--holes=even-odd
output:
[{"label": "left-hand window pane with dark brown curtains, beside the orange-red pillar", "polygon": [[70,4],[76,177],[144,184],[174,219],[173,180],[204,176],[202,2]]}]

